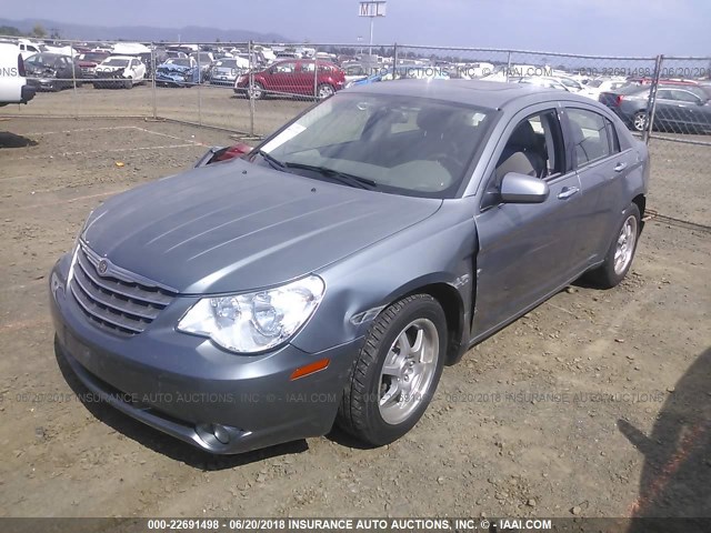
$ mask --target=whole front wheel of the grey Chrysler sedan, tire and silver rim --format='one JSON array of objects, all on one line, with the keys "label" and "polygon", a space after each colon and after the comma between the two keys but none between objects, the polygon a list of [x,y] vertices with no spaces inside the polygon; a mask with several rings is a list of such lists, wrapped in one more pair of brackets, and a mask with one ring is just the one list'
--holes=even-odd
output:
[{"label": "whole front wheel of the grey Chrysler sedan, tire and silver rim", "polygon": [[415,294],[391,304],[353,361],[337,424],[375,446],[401,438],[429,405],[445,353],[447,319],[437,300]]}]

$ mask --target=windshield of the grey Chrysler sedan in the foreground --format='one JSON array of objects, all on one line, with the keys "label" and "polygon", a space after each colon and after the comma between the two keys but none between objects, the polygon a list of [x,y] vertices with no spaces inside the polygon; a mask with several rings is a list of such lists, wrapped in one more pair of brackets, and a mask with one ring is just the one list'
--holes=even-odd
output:
[{"label": "windshield of the grey Chrysler sedan in the foreground", "polygon": [[253,158],[316,179],[338,172],[382,192],[453,198],[491,114],[423,98],[337,94],[262,144],[268,158]]}]

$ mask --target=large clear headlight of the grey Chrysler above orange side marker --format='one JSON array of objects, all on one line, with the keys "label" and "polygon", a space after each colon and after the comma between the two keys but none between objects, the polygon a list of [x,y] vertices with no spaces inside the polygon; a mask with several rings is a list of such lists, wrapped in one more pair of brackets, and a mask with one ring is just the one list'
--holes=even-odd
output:
[{"label": "large clear headlight of the grey Chrysler above orange side marker", "polygon": [[323,298],[318,275],[248,294],[203,298],[184,314],[178,330],[209,336],[239,353],[270,350],[301,328]]}]

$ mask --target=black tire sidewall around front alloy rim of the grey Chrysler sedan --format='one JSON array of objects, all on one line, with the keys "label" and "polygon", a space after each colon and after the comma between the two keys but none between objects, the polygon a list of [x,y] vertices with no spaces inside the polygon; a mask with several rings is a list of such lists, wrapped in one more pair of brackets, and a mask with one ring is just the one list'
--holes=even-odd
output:
[{"label": "black tire sidewall around front alloy rim of the grey Chrysler sedan", "polygon": [[[437,328],[440,343],[437,368],[430,386],[424,393],[422,401],[420,401],[420,404],[405,421],[393,425],[382,419],[378,406],[380,399],[380,372],[382,371],[382,366],[385,362],[385,355],[390,351],[390,346],[392,346],[397,336],[409,323],[417,319],[428,319],[432,321]],[[440,304],[432,298],[413,300],[405,303],[380,340],[380,343],[378,344],[378,356],[373,363],[368,366],[365,372],[365,389],[368,394],[365,400],[365,419],[370,423],[370,428],[368,429],[370,442],[373,444],[390,443],[405,434],[418,423],[434,396],[434,391],[437,390],[440,376],[442,375],[445,355],[447,319]]]}]

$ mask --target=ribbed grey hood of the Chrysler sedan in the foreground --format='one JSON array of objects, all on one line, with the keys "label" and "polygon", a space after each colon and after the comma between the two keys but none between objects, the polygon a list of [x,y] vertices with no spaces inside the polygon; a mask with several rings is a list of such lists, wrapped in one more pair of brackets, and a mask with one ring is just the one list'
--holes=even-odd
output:
[{"label": "ribbed grey hood of the Chrysler sedan in the foreground", "polygon": [[178,292],[237,292],[314,272],[441,204],[234,160],[113,197],[82,238],[117,266]]}]

